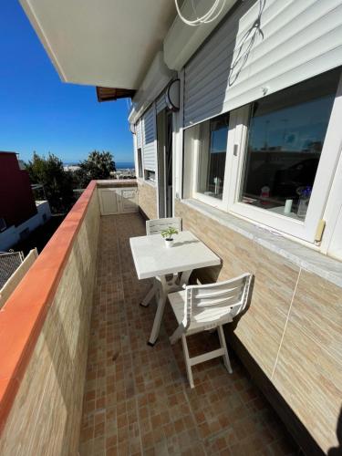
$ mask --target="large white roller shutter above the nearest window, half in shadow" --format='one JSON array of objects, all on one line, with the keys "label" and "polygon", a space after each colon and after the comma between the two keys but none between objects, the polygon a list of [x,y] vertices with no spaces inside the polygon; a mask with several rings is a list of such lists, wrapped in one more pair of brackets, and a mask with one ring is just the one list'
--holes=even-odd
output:
[{"label": "large white roller shutter above the nearest window, half in shadow", "polygon": [[246,1],[185,67],[184,126],[341,65],[342,0]]}]

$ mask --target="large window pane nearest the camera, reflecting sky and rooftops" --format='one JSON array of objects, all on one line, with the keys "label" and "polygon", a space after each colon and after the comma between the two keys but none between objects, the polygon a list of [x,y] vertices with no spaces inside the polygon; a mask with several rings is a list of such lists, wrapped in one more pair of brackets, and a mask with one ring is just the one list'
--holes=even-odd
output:
[{"label": "large window pane nearest the camera, reflecting sky and rooftops", "polygon": [[240,201],[304,220],[339,69],[252,106]]}]

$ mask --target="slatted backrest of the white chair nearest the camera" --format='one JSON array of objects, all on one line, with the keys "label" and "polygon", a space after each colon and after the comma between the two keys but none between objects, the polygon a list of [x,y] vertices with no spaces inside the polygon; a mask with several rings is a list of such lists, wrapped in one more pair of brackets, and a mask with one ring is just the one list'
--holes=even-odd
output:
[{"label": "slatted backrest of the white chair nearest the camera", "polygon": [[210,328],[232,321],[247,305],[251,274],[209,285],[188,285],[185,288],[183,326],[192,322]]}]

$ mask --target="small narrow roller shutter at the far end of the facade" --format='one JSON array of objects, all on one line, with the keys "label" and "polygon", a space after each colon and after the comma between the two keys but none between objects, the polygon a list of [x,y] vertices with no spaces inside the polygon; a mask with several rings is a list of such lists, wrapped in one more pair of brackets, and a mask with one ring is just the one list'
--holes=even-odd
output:
[{"label": "small narrow roller shutter at the far end of the facade", "polygon": [[156,127],[154,104],[142,116],[142,154],[144,169],[156,171]]}]

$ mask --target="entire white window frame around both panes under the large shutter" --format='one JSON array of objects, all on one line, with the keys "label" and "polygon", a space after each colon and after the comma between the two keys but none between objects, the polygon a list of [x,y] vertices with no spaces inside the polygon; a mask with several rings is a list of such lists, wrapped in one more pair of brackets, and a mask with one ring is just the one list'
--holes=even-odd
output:
[{"label": "entire white window frame around both panes under the large shutter", "polygon": [[[244,156],[245,153],[247,153],[246,141],[251,106],[252,105],[249,104],[230,112],[229,130],[227,135],[227,154],[224,169],[223,200],[218,200],[197,192],[201,150],[201,124],[190,127],[191,129],[197,129],[193,130],[192,138],[192,198],[225,212],[232,212],[235,215],[248,219],[252,223],[262,224],[279,233],[285,233],[307,243],[314,244],[317,225],[319,221],[324,218],[326,201],[329,196],[341,154],[342,71],[326,130],[326,138],[321,151],[305,221],[267,211],[263,208],[239,201]],[[317,182],[319,182],[319,185]]]}]

